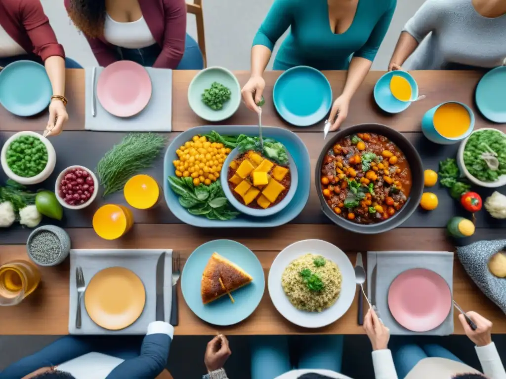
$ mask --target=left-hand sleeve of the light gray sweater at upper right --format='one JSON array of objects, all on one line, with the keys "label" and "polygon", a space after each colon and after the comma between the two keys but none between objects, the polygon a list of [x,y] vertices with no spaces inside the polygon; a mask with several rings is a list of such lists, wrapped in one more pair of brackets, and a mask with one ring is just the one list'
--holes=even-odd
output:
[{"label": "left-hand sleeve of the light gray sweater at upper right", "polygon": [[404,26],[408,32],[420,43],[427,34],[436,29],[443,16],[443,0],[427,0],[416,11]]}]

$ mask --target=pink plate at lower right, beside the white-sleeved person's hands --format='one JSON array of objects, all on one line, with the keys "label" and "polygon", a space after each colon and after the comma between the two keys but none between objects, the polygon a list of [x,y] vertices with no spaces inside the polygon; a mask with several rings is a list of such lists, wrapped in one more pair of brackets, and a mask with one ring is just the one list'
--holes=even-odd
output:
[{"label": "pink plate at lower right, beside the white-sleeved person's hands", "polygon": [[425,268],[399,274],[388,291],[390,312],[412,331],[429,331],[441,325],[450,313],[451,302],[446,281]]}]

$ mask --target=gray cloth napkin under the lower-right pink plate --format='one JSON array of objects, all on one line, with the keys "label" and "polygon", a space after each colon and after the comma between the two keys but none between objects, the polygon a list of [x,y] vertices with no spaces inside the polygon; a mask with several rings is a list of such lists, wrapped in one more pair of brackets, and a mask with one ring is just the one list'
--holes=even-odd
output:
[{"label": "gray cloth napkin under the lower-right pink plate", "polygon": [[[376,267],[376,283],[372,272]],[[448,283],[453,293],[453,253],[446,251],[378,251],[367,252],[367,295],[380,312],[383,323],[392,335],[447,336],[453,333],[453,307],[445,321],[435,329],[418,333],[401,326],[390,313],[388,291],[394,279],[412,268],[432,270]]]}]

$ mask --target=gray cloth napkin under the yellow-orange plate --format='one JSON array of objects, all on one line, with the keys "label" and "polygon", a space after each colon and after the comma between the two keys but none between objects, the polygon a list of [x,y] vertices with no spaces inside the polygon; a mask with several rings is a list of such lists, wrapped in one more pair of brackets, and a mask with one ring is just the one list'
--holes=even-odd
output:
[{"label": "gray cloth napkin under the yellow-orange plate", "polygon": [[[70,334],[102,335],[126,334],[143,335],[148,324],[156,318],[156,264],[160,255],[165,252],[165,269],[163,280],[163,307],[165,321],[171,318],[172,307],[172,250],[170,249],[72,249],[70,250],[70,300],[68,330]],[[77,311],[77,288],[75,268],[80,266],[85,276],[85,283],[97,272],[108,267],[125,267],[132,270],[142,280],[146,291],[146,304],[140,317],[130,326],[121,330],[107,330],[98,326],[86,312],[84,296],[81,302],[82,326],[75,327]]]}]

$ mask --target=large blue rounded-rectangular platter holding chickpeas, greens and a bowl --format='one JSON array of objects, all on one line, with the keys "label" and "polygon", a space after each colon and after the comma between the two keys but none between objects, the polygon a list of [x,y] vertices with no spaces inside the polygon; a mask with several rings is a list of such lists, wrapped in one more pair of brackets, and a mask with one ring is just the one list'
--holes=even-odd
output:
[{"label": "large blue rounded-rectangular platter holding chickpeas, greens and a bowl", "polygon": [[184,145],[186,141],[191,140],[194,135],[207,134],[211,130],[216,130],[222,135],[258,135],[258,126],[216,125],[196,126],[174,138],[171,145],[167,148],[163,162],[163,177],[165,179],[163,180],[163,193],[168,208],[177,218],[186,224],[199,227],[273,227],[290,222],[302,212],[309,198],[311,182],[311,162],[308,149],[297,134],[287,129],[272,126],[262,127],[264,138],[274,138],[286,147],[297,165],[299,174],[297,192],[288,206],[272,216],[258,218],[241,214],[237,218],[227,221],[209,220],[205,216],[192,215],[183,208],[181,204],[179,204],[178,196],[172,191],[166,180],[168,176],[175,175],[176,170],[172,162],[177,159],[176,150],[179,149],[181,145]]}]

